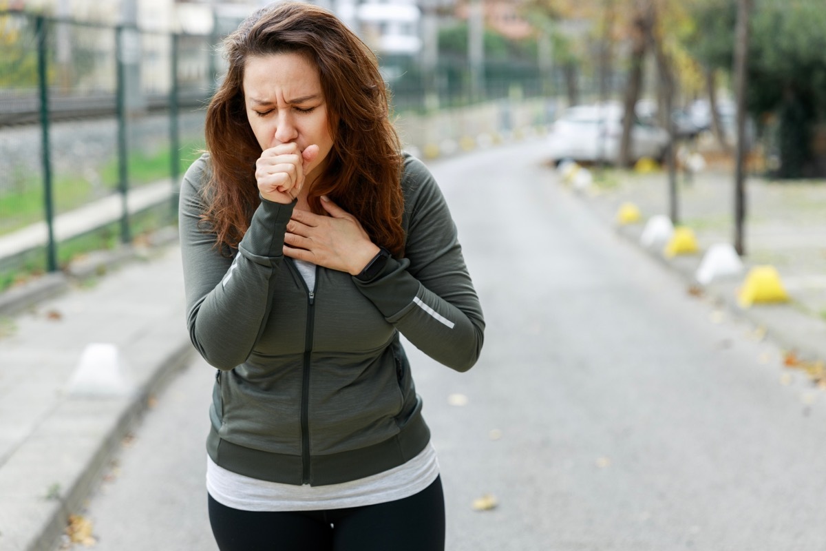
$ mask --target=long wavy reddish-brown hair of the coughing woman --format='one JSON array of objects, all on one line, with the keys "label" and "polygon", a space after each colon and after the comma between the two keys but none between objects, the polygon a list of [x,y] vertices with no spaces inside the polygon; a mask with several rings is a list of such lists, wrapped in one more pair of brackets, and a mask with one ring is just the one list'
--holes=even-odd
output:
[{"label": "long wavy reddish-brown hair of the coughing woman", "polygon": [[266,7],[224,40],[229,69],[207,109],[211,179],[202,220],[221,249],[237,249],[260,203],[255,161],[261,147],[244,107],[244,66],[250,57],[307,55],[318,68],[333,147],[308,202],[324,213],[326,195],[361,222],[377,244],[404,251],[401,227],[401,144],[389,120],[387,88],[376,56],[332,13],[306,3]]}]

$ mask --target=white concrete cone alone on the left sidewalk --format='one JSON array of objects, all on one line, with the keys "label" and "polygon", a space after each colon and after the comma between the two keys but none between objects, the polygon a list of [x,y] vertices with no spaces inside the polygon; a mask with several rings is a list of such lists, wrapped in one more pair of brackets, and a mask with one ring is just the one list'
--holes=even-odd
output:
[{"label": "white concrete cone alone on the left sidewalk", "polygon": [[121,397],[133,392],[120,351],[111,343],[87,344],[67,392],[74,397]]}]

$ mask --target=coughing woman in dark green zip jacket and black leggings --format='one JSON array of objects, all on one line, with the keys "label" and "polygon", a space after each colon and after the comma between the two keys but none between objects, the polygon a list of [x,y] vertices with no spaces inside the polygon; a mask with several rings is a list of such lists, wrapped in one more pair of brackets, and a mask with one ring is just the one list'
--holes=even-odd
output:
[{"label": "coughing woman in dark green zip jacket and black leggings", "polygon": [[444,549],[430,431],[399,335],[458,371],[482,310],[430,173],[402,154],[373,54],[329,12],[265,8],[188,170],[188,329],[218,368],[220,549]]}]

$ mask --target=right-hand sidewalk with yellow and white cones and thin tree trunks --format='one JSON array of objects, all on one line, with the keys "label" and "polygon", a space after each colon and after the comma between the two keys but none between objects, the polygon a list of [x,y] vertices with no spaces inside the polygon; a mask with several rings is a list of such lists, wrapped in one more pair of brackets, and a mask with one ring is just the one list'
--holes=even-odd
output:
[{"label": "right-hand sidewalk with yellow and white cones and thin tree trunks", "polygon": [[[667,173],[624,173],[607,170],[585,191],[576,191],[593,207],[596,216],[616,226],[618,235],[640,244],[645,222],[667,215]],[[560,178],[561,181],[562,178]],[[666,259],[650,250],[653,258],[675,269],[686,281],[686,292],[699,294],[729,315],[746,318],[790,352],[826,360],[826,185],[823,182],[768,182],[748,178],[744,270],[737,276],[717,278],[706,286],[695,279],[703,254],[711,245],[733,244],[734,183],[724,169],[698,173],[686,182],[678,178],[680,223],[694,231],[698,254]],[[642,214],[637,224],[620,226],[620,205],[632,202]],[[639,245],[642,246],[642,245]],[[781,276],[790,296],[786,304],[739,306],[738,289],[748,270],[771,265]]]}]

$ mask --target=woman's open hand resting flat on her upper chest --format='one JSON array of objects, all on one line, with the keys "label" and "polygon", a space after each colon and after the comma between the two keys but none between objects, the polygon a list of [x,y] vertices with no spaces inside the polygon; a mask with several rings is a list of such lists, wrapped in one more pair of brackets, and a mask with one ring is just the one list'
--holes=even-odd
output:
[{"label": "woman's open hand resting flat on her upper chest", "polygon": [[284,254],[325,268],[356,275],[378,253],[361,224],[341,207],[321,197],[330,216],[296,209],[287,223]]}]

